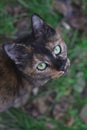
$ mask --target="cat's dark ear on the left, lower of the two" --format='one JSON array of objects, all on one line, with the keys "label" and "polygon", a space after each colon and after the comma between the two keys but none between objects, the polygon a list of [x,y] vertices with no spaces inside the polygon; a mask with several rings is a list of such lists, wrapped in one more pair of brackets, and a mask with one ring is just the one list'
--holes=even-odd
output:
[{"label": "cat's dark ear on the left, lower of the two", "polygon": [[6,43],[3,45],[3,49],[8,57],[14,61],[16,65],[24,66],[24,64],[26,64],[28,53],[23,45]]}]

